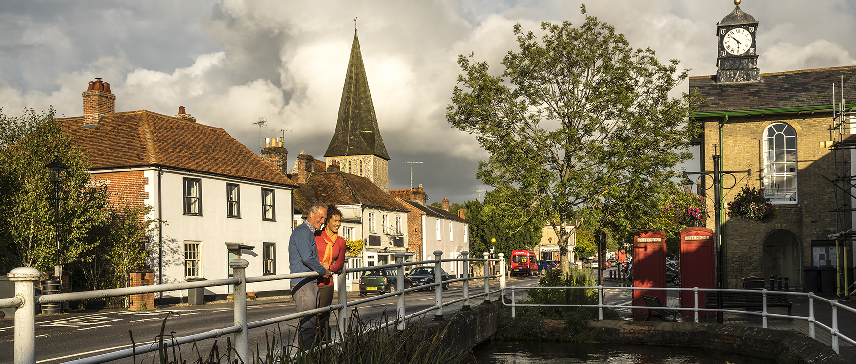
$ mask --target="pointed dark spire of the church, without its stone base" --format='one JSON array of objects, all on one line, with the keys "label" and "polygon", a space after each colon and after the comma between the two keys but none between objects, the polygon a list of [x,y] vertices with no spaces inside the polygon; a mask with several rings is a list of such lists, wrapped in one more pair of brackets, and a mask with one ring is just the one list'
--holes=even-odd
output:
[{"label": "pointed dark spire of the church, without its stone base", "polygon": [[[356,18],[354,18],[356,21]],[[372,92],[363,65],[360,41],[354,23],[354,44],[348,61],[348,73],[339,103],[336,130],[327,147],[326,157],[378,156],[389,161],[389,153],[377,128],[377,116],[372,103]]]}]

